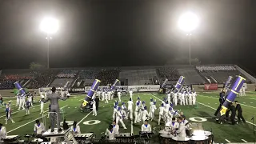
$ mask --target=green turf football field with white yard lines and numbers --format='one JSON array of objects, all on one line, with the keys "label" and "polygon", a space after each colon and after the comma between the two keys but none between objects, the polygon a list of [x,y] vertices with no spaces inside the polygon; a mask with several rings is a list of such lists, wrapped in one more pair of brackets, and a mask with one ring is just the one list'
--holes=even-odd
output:
[{"label": "green turf football field with white yard lines and numbers", "polygon": [[[241,103],[243,116],[246,119],[246,123],[239,123],[238,125],[230,125],[229,123],[224,123],[222,125],[218,124],[214,120],[214,112],[218,107],[218,92],[207,92],[207,93],[198,93],[197,102],[198,108],[195,106],[174,106],[175,110],[182,110],[187,119],[194,119],[196,121],[201,121],[202,118],[206,119],[205,122],[202,122],[204,130],[212,130],[214,133],[214,142],[216,143],[229,143],[229,142],[254,142],[253,134],[253,123],[251,121],[252,116],[256,116],[256,96],[255,92],[247,92],[245,98],[236,98],[238,102]],[[150,94],[150,93],[139,93],[134,94],[133,100],[136,102],[138,96],[142,101],[146,102],[146,105],[149,108],[150,98],[157,100],[157,107],[161,105],[162,99],[166,95]],[[66,101],[60,101],[60,107],[62,107],[62,118],[65,117],[66,121],[70,121],[72,124],[73,121],[77,121],[78,125],[81,127],[82,133],[94,132],[97,138],[100,138],[103,135],[103,132],[106,131],[106,128],[112,122],[113,106],[114,100],[109,101],[108,104],[105,102],[99,103],[98,115],[93,116],[91,112],[80,112],[80,105],[83,101],[85,95],[76,95]],[[122,101],[128,102],[129,96],[122,94]],[[6,125],[6,130],[8,135],[19,134],[24,136],[25,134],[34,133],[34,122],[36,119],[39,119],[42,122],[42,114],[40,113],[39,103],[35,103],[34,106],[30,107],[30,115],[26,115],[25,110],[18,110],[18,107],[15,106],[16,100],[14,98],[4,98],[4,102],[12,100],[11,108],[13,109],[12,118],[15,123],[10,121]],[[37,101],[39,99],[36,99]],[[119,106],[121,103],[119,103]],[[48,111],[49,103],[46,103],[44,110]],[[1,123],[5,126],[5,109],[2,108],[0,112]],[[158,110],[155,112],[154,121],[149,121],[152,128],[160,130],[158,126]],[[134,124],[130,120],[125,121],[127,130],[122,128],[121,123],[120,132],[138,134],[138,131],[141,129],[141,123]],[[49,118],[46,118],[46,127],[50,126]],[[163,122],[161,123],[163,127]]]}]

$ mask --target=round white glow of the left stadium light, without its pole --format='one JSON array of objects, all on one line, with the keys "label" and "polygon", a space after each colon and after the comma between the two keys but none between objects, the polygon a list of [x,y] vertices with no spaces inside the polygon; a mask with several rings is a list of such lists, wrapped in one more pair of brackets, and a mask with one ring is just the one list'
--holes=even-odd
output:
[{"label": "round white glow of the left stadium light, without its pole", "polygon": [[54,34],[58,31],[58,20],[55,18],[44,18],[40,24],[40,29],[46,34]]}]

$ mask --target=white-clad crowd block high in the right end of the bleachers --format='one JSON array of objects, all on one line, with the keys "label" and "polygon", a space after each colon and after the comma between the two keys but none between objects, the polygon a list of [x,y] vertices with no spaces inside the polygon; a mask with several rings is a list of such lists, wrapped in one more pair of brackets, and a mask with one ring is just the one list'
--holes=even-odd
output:
[{"label": "white-clad crowd block high in the right end of the bleachers", "polygon": [[196,66],[199,72],[202,71],[230,71],[236,70],[234,66]]}]

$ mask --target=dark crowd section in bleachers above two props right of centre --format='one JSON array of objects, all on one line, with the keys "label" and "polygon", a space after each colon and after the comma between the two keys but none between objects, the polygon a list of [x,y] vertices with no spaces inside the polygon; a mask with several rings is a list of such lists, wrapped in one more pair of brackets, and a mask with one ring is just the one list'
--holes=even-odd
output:
[{"label": "dark crowd section in bleachers above two props right of centre", "polygon": [[167,78],[169,81],[177,81],[179,78],[178,70],[174,67],[161,67],[158,72],[161,78]]}]

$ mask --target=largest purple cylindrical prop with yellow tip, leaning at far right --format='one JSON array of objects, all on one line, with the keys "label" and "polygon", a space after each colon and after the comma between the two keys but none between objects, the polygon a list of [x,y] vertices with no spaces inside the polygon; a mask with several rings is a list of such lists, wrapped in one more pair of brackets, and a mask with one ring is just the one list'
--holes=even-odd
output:
[{"label": "largest purple cylindrical prop with yellow tip, leaning at far right", "polygon": [[234,99],[237,97],[238,92],[242,88],[245,81],[246,78],[242,78],[241,76],[238,76],[238,78],[235,80],[234,85],[230,90],[230,93],[226,96],[226,100],[222,105],[222,109],[220,110],[221,116],[226,114],[226,110],[228,109],[230,102],[234,102]]}]

